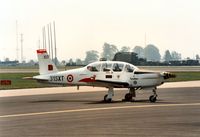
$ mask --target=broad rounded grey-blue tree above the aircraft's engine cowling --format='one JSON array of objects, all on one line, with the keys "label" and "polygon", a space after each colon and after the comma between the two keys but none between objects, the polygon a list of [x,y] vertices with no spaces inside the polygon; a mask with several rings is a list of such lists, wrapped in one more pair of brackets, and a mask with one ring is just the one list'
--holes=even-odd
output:
[{"label": "broad rounded grey-blue tree above the aircraft's engine cowling", "polygon": [[144,54],[148,61],[160,61],[161,55],[159,49],[152,44],[149,44],[144,48]]}]

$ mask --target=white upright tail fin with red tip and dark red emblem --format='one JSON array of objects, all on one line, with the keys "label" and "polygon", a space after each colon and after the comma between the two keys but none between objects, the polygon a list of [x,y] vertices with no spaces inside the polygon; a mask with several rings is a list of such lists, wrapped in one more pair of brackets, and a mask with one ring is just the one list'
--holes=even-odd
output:
[{"label": "white upright tail fin with red tip and dark red emblem", "polygon": [[53,61],[49,58],[46,49],[38,49],[37,56],[39,61],[39,73],[40,75],[50,74],[58,72]]}]

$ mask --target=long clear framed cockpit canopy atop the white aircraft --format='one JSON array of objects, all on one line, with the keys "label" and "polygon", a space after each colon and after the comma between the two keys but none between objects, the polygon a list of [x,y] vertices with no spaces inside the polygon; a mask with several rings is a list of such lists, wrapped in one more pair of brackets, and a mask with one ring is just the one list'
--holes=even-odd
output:
[{"label": "long clear framed cockpit canopy atop the white aircraft", "polygon": [[94,62],[86,66],[91,72],[134,72],[138,68],[132,64],[120,61]]}]

